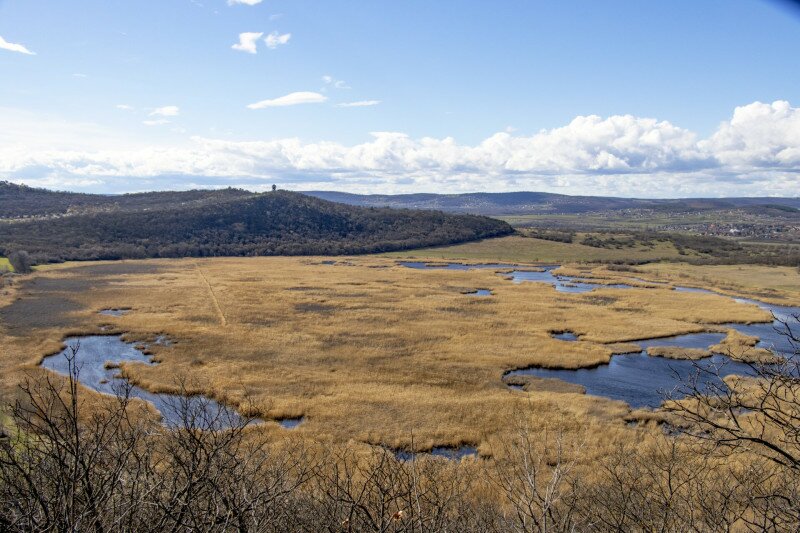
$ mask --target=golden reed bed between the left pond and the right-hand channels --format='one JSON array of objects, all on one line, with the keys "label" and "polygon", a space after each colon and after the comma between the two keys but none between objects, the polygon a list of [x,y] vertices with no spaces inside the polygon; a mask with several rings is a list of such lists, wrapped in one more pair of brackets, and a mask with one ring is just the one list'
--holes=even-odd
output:
[{"label": "golden reed bed between the left pond and the right-hand channels", "polygon": [[[475,288],[493,296],[463,294]],[[717,295],[602,291],[558,293],[493,271],[413,270],[376,257],[64,264],[33,274],[0,308],[0,373],[8,392],[25,372],[43,372],[36,365],[65,336],[104,325],[130,340],[166,334],[176,344],[152,346],[159,365],[123,367],[153,391],[184,377],[231,405],[252,402],[265,418],[305,416],[297,431],[309,436],[403,447],[413,431],[423,449],[469,443],[491,453],[520,410],[538,426],[629,431],[622,403],[552,383],[513,391],[506,370],[592,366],[609,360],[610,343],[769,318]],[[105,308],[131,312],[98,314]],[[551,338],[564,330],[582,342]]]}]

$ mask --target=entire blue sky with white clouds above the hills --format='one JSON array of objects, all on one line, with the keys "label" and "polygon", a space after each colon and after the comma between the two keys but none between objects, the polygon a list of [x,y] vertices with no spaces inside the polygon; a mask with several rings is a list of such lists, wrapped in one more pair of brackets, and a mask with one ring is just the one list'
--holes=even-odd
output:
[{"label": "entire blue sky with white clouds above the hills", "polygon": [[800,7],[0,0],[0,179],[800,196]]}]

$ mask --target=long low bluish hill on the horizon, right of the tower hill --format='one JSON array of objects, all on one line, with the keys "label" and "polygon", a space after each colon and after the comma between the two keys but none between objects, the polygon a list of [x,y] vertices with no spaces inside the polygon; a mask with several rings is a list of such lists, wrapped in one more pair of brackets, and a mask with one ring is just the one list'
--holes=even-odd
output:
[{"label": "long low bluish hill on the horizon, right of the tower hill", "polygon": [[580,214],[623,209],[691,212],[753,206],[800,209],[800,198],[770,197],[648,200],[604,196],[567,196],[544,192],[360,195],[336,191],[309,191],[305,194],[358,206],[440,209],[451,213],[480,215]]}]

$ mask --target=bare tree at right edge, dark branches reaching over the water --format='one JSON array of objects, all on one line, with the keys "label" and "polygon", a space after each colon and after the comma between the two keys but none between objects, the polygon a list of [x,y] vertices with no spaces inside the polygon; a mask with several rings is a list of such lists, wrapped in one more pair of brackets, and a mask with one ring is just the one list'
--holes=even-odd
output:
[{"label": "bare tree at right edge, dark branches reaching over the water", "polygon": [[753,529],[800,523],[800,317],[779,324],[791,347],[774,354],[779,362],[747,363],[748,375],[727,377],[724,367],[696,365],[666,404],[700,453],[758,465],[743,515]]}]

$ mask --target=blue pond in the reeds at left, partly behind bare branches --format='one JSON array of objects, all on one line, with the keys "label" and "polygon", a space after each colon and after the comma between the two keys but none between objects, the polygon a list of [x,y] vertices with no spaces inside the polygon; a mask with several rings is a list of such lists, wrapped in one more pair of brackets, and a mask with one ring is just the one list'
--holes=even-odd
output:
[{"label": "blue pond in the reeds at left, partly behind bare branches", "polygon": [[[161,344],[170,342],[166,337],[159,337]],[[76,367],[78,381],[98,392],[115,395],[124,390],[128,380],[119,376],[119,363],[135,363],[156,365],[152,358],[138,350],[134,344],[126,343],[119,335],[90,335],[69,337],[65,341],[66,348],[59,353],[45,357],[42,367],[61,375],[68,375],[69,363],[67,355],[77,348]],[[174,394],[162,394],[146,391],[133,386],[130,396],[140,398],[152,404],[161,413],[162,422],[168,427],[180,427],[182,413],[189,413],[199,422],[200,427],[224,429],[241,424],[244,419],[233,409],[205,396],[181,397]]]}]

